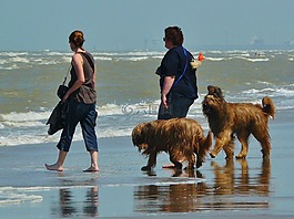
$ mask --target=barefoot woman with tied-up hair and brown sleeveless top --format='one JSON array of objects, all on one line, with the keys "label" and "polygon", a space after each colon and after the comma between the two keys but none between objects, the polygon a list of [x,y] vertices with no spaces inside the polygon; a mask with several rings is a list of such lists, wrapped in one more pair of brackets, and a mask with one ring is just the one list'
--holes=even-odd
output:
[{"label": "barefoot woman with tied-up hair and brown sleeveless top", "polygon": [[73,31],[69,35],[70,48],[73,51],[71,61],[71,80],[69,90],[62,102],[68,102],[69,111],[65,127],[57,145],[59,156],[55,164],[47,165],[49,170],[63,171],[63,164],[71,146],[78,123],[81,124],[85,148],[90,154],[91,164],[84,171],[99,171],[98,142],[95,135],[95,64],[93,56],[83,49],[84,38],[82,31]]}]

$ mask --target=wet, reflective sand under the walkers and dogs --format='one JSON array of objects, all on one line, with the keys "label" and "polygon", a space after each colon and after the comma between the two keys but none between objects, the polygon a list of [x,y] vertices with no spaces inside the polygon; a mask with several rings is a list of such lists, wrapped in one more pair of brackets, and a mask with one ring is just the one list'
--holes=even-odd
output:
[{"label": "wet, reflective sand under the walkers and dogs", "polygon": [[221,153],[192,173],[162,169],[166,154],[153,171],[141,171],[146,159],[130,137],[99,139],[98,174],[82,173],[90,164],[82,142],[73,143],[63,173],[43,166],[55,161],[53,144],[1,147],[0,218],[293,218],[293,131],[286,117],[271,121],[270,159],[251,138],[246,159]]}]

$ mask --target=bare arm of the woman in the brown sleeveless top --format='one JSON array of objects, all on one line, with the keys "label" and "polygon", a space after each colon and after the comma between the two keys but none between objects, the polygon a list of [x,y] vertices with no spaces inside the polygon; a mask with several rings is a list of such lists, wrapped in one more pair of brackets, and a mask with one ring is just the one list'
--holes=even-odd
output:
[{"label": "bare arm of the woman in the brown sleeveless top", "polygon": [[83,59],[81,54],[75,53],[72,55],[72,64],[77,73],[77,81],[63,96],[63,102],[65,102],[69,96],[84,83]]}]

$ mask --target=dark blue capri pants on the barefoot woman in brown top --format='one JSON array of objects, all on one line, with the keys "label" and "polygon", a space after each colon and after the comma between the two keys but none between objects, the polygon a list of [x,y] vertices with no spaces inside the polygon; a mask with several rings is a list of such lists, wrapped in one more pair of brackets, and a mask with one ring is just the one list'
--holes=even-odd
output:
[{"label": "dark blue capri pants on the barefoot woman in brown top", "polygon": [[60,150],[69,152],[73,134],[78,123],[81,124],[82,135],[88,152],[98,152],[98,142],[95,135],[97,111],[95,103],[84,104],[74,100],[69,100],[69,111],[67,114],[65,127],[61,133],[57,147]]}]

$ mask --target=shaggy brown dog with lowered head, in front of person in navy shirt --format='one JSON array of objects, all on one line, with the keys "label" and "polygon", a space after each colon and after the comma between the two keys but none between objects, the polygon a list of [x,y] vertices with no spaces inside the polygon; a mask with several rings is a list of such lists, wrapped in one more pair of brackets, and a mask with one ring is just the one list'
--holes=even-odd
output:
[{"label": "shaggy brown dog with lowered head, in front of person in navy shirt", "polygon": [[156,165],[156,156],[160,152],[170,154],[170,160],[174,167],[182,169],[181,161],[187,160],[189,169],[196,168],[204,161],[205,155],[212,145],[212,136],[209,132],[204,136],[197,122],[190,118],[158,119],[142,123],[134,127],[132,140],[142,155],[149,156],[148,165],[141,170],[150,170]]}]

